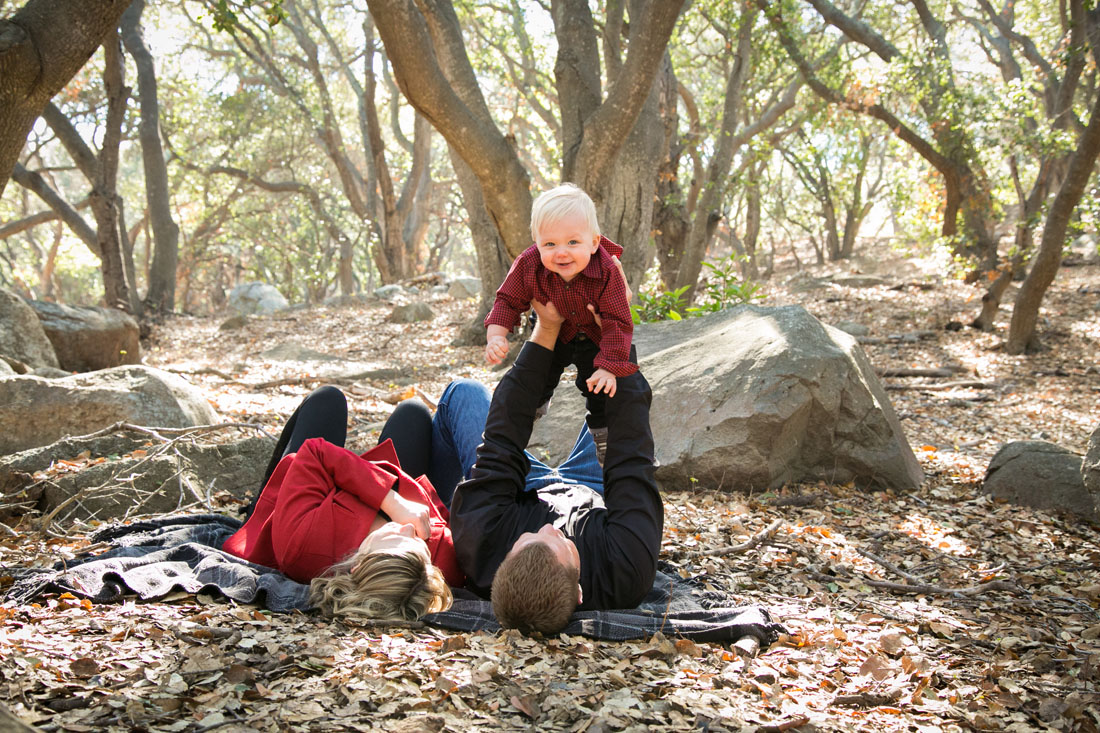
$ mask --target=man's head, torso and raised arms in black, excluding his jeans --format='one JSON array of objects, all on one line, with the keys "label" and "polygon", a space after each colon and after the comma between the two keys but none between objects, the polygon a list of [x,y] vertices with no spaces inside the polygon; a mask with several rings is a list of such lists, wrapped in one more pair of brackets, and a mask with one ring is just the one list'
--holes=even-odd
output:
[{"label": "man's head, torso and raised arms in black, excluding his jeans", "polygon": [[[477,459],[451,502],[468,587],[503,626],[552,634],[574,610],[629,609],[653,584],[664,508],[654,480],[652,398],[640,372],[607,400],[603,485],[552,471],[530,484],[525,453],[562,318],[534,302],[530,341],[496,387]],[[591,460],[600,475],[594,449]]]}]

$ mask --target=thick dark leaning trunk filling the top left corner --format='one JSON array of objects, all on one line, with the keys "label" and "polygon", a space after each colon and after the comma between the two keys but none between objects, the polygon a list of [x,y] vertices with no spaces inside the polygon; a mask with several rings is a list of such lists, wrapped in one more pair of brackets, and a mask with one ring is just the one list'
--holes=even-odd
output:
[{"label": "thick dark leaning trunk filling the top left corner", "polygon": [[88,62],[130,0],[29,0],[0,19],[0,194],[34,121]]}]

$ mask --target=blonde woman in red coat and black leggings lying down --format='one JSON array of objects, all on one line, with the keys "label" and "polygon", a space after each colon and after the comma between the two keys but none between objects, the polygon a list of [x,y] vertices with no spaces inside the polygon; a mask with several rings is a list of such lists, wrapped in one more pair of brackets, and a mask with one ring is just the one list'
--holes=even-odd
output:
[{"label": "blonde woman in red coat and black leggings lying down", "polygon": [[[449,584],[461,587],[465,578],[447,506],[425,475],[426,412],[398,405],[378,446],[359,456],[343,447],[344,395],[316,390],[287,422],[263,489],[222,549],[310,583],[310,601],[328,615],[413,621],[448,609]],[[444,448],[436,451],[438,462]],[[462,473],[451,462],[441,474],[449,494]]]}]

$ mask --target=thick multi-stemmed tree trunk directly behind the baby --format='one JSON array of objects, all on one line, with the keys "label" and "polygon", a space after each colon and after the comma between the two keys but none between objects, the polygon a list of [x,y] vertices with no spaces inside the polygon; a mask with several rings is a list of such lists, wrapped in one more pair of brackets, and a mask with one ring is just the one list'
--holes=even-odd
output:
[{"label": "thick multi-stemmed tree trunk directly behind the baby", "polygon": [[[448,0],[417,0],[415,6],[411,0],[369,0],[367,4],[402,91],[470,166],[480,184],[484,208],[509,259],[515,258],[531,241],[530,179],[510,141],[488,112],[465,53],[454,8]],[[584,34],[594,39],[594,24],[590,22],[584,28],[584,19],[591,21],[587,6],[581,8],[581,4],[576,0],[556,2],[552,13],[556,23],[566,24],[562,32],[568,32],[570,39]],[[587,70],[578,70],[578,75],[587,79],[583,89],[571,87],[564,90],[564,96],[559,90],[561,113],[569,116],[580,109],[583,117],[580,125],[576,120],[565,121],[572,129],[580,127],[582,130],[579,142],[563,140],[563,150],[578,151],[574,169],[568,177],[592,195],[607,234],[612,239],[626,240],[629,256],[637,256],[638,263],[627,260],[625,265],[639,272],[650,251],[647,247],[649,215],[653,176],[660,160],[646,161],[652,165],[652,172],[641,183],[625,179],[616,183],[618,176],[631,173],[626,171],[627,166],[616,172],[613,163],[630,138],[642,108],[649,103],[657,68],[664,57],[682,4],[683,0],[637,0],[634,3],[627,58],[612,81],[607,98],[598,107],[592,107],[598,95],[592,94],[593,77]],[[571,17],[574,13],[582,15],[576,22]],[[559,39],[559,48],[563,45],[569,43],[564,37]],[[585,42],[588,53],[584,58],[591,57],[594,47],[594,42]],[[594,63],[598,64],[598,56]],[[576,95],[576,99],[571,94]],[[653,149],[647,150],[651,154]],[[637,175],[637,169],[632,175]],[[645,215],[644,219],[637,216],[639,212]],[[641,223],[632,223],[630,217]],[[634,245],[632,251],[630,245]],[[483,249],[492,254],[487,243],[480,247],[479,252]],[[495,283],[486,285],[491,286]]]}]

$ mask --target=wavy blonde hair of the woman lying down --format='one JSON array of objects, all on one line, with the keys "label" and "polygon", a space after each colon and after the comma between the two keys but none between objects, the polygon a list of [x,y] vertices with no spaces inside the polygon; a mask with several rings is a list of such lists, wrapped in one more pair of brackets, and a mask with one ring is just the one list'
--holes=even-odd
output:
[{"label": "wavy blonde hair of the woman lying down", "polygon": [[415,553],[356,551],[309,584],[309,600],[329,616],[416,621],[451,608],[439,568]]}]

